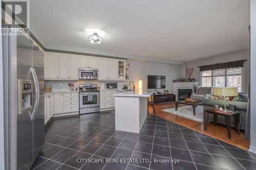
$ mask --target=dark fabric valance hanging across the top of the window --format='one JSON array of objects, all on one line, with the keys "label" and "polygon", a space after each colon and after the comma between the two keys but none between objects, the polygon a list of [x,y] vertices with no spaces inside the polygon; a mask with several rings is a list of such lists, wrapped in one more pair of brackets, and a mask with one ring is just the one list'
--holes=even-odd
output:
[{"label": "dark fabric valance hanging across the top of the window", "polygon": [[225,63],[203,65],[203,66],[199,66],[199,68],[200,68],[200,71],[208,71],[208,70],[215,70],[215,69],[244,67],[244,61],[246,61],[246,60],[238,60],[238,61],[231,61],[231,62],[225,62]]}]

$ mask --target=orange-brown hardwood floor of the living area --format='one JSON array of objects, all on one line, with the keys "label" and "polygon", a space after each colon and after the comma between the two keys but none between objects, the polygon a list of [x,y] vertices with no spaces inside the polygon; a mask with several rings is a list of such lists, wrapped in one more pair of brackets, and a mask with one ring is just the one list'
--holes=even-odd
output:
[{"label": "orange-brown hardwood floor of the living area", "polygon": [[[154,105],[154,107],[155,107],[156,115],[161,118],[165,118],[176,124],[182,125],[186,128],[193,129],[197,132],[201,132],[205,135],[208,135],[216,139],[222,140],[224,142],[227,142],[229,144],[235,145],[236,147],[239,147],[245,150],[249,149],[250,141],[244,139],[242,135],[237,134],[236,129],[234,128],[231,128],[231,139],[229,139],[227,136],[226,126],[224,125],[217,124],[217,126],[214,127],[214,124],[210,122],[208,123],[207,131],[204,131],[203,123],[199,123],[194,120],[190,120],[172,113],[167,113],[162,111],[162,109],[174,108],[175,103]],[[148,106],[148,111],[150,114],[153,114],[154,113],[153,107]],[[243,134],[243,132],[241,133]]]}]

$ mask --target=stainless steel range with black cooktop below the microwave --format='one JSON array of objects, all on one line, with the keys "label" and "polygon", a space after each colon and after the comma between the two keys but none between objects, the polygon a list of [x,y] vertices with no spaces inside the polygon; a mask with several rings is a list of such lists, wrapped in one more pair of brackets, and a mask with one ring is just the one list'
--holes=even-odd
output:
[{"label": "stainless steel range with black cooktop below the microwave", "polygon": [[99,90],[97,84],[79,85],[79,113],[99,112]]}]

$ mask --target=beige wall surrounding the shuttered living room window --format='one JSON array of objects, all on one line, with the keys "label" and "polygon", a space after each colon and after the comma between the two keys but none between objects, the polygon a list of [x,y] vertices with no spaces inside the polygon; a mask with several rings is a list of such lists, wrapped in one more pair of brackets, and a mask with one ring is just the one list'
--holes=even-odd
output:
[{"label": "beige wall surrounding the shuttered living room window", "polygon": [[233,52],[233,53],[222,54],[219,56],[189,61],[189,62],[187,62],[187,67],[194,67],[193,75],[191,76],[191,78],[195,78],[197,81],[199,81],[199,84],[200,84],[201,83],[200,82],[200,71],[199,71],[198,66],[247,59],[247,61],[244,62],[244,70],[245,70],[244,91],[248,91],[248,85],[249,85],[249,80],[250,80],[249,79],[249,71],[250,71],[249,70],[249,64],[250,64],[249,57],[250,57],[249,50],[241,50],[241,51],[237,51],[237,52]]}]

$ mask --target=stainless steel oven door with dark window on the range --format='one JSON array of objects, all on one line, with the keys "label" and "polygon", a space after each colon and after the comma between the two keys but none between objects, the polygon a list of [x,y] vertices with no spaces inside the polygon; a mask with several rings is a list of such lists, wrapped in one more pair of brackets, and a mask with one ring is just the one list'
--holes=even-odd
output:
[{"label": "stainless steel oven door with dark window on the range", "polygon": [[99,92],[83,92],[79,98],[79,108],[99,107]]}]

